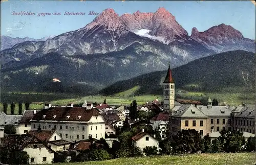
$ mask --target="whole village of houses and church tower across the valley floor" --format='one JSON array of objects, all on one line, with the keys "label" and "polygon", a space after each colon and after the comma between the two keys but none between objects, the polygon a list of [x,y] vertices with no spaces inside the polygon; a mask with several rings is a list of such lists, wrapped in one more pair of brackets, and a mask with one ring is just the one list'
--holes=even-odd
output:
[{"label": "whole village of houses and church tower across the valley floor", "polygon": [[[183,130],[196,131],[200,139],[207,137],[213,146],[223,132],[242,132],[245,141],[255,136],[255,105],[213,105],[211,98],[207,105],[202,105],[199,101],[175,99],[170,67],[163,83],[163,96],[162,102],[155,99],[141,106],[136,100],[131,106],[111,106],[104,100],[98,105],[85,101],[81,107],[73,103],[44,103],[44,109],[27,109],[22,115],[1,111],[1,162],[14,151],[26,152],[25,163],[29,164],[148,156],[163,151],[170,154],[163,142],[177,142],[176,136]],[[88,156],[87,151],[99,149],[107,151],[101,159]],[[25,164],[20,162],[23,159],[24,156],[19,157],[18,163]]]}]

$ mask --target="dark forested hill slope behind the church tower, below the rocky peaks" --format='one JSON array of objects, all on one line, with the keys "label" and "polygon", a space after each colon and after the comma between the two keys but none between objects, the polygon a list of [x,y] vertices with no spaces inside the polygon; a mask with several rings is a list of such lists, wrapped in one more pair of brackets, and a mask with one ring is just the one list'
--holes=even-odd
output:
[{"label": "dark forested hill slope behind the church tower, below the rocky peaks", "polygon": [[[233,88],[234,91],[238,88],[254,90],[255,54],[246,51],[220,53],[173,68],[172,72],[177,88],[194,85],[204,91],[221,91],[224,88]],[[165,76],[166,70],[141,75],[116,82],[99,93],[113,95],[139,85],[140,88],[136,91],[138,95],[162,95]]]}]

